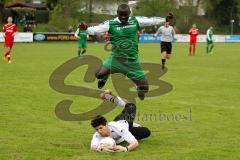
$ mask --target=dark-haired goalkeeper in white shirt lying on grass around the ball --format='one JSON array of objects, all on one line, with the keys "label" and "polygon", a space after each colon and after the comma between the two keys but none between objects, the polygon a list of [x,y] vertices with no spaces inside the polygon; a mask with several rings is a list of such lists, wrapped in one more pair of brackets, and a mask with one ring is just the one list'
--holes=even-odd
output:
[{"label": "dark-haired goalkeeper in white shirt lying on grass around the ball", "polygon": [[[120,107],[123,111],[114,119],[114,121],[107,122],[105,117],[98,115],[92,121],[91,125],[96,129],[92,137],[91,149],[94,151],[107,152],[127,152],[138,147],[138,140],[150,136],[151,132],[146,127],[137,126],[133,123],[136,116],[136,106],[129,103],[120,97],[112,96],[109,90],[101,94],[101,98],[109,100]],[[105,137],[111,137],[115,140],[114,147],[106,147],[100,144],[100,141]],[[126,147],[119,145],[121,142],[127,142]]]}]

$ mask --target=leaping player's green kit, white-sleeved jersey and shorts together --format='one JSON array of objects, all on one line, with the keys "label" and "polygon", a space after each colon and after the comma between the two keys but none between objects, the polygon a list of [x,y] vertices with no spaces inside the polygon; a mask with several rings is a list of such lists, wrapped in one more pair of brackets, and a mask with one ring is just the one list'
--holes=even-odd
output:
[{"label": "leaping player's green kit, white-sleeved jersey and shorts together", "polygon": [[158,25],[165,22],[162,17],[129,17],[126,24],[118,18],[98,26],[88,27],[88,34],[97,35],[108,32],[112,44],[111,55],[103,66],[111,73],[122,73],[131,79],[146,79],[138,60],[138,30],[142,26]]}]

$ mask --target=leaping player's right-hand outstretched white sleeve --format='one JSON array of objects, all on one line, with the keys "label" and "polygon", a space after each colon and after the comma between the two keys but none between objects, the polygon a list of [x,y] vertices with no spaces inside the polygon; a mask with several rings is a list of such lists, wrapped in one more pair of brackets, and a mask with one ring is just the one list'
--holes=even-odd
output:
[{"label": "leaping player's right-hand outstretched white sleeve", "polygon": [[137,19],[140,27],[159,25],[159,24],[163,24],[164,22],[166,22],[166,18],[163,18],[163,17],[136,16],[136,19]]}]

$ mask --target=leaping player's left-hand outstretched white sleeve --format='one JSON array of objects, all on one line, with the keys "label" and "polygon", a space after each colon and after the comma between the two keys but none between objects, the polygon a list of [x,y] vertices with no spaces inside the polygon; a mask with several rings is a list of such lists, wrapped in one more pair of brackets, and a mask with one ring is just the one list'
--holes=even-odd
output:
[{"label": "leaping player's left-hand outstretched white sleeve", "polygon": [[109,30],[109,21],[106,21],[97,26],[88,27],[87,33],[90,35],[97,35],[100,33],[108,32],[108,30]]}]

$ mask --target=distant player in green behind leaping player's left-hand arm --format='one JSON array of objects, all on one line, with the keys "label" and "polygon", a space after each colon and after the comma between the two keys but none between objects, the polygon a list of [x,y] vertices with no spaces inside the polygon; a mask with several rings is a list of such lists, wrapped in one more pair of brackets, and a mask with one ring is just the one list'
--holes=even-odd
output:
[{"label": "distant player in green behind leaping player's left-hand arm", "polygon": [[87,49],[87,24],[85,22],[81,22],[78,25],[78,29],[75,32],[75,37],[77,38],[78,43],[78,57],[82,56]]}]

